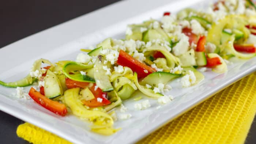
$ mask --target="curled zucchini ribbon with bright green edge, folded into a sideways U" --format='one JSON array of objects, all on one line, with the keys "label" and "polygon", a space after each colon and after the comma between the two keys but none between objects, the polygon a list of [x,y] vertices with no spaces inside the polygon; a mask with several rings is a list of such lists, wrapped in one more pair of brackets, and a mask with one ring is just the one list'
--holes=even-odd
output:
[{"label": "curled zucchini ribbon with bright green edge, folded into a sideways U", "polygon": [[71,71],[82,71],[82,70],[86,70],[86,69],[89,69],[89,68],[92,68],[92,67],[93,67],[93,64],[85,65],[85,64],[78,63],[78,62],[70,61],[70,62],[67,62],[64,65],[63,73],[69,79],[72,79],[72,80],[75,80],[75,81],[78,81],[78,82],[95,83],[95,80],[90,76],[82,75],[81,73],[69,74],[69,72],[71,72]]}]

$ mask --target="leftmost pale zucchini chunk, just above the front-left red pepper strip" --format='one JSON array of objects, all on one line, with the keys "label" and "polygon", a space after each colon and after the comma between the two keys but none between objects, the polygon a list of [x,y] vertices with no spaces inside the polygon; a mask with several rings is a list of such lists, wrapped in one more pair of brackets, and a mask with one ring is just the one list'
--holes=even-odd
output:
[{"label": "leftmost pale zucchini chunk, just above the front-left red pepper strip", "polygon": [[50,70],[47,71],[46,76],[44,77],[44,82],[44,92],[46,97],[55,98],[63,94],[63,89],[61,87],[60,80]]}]

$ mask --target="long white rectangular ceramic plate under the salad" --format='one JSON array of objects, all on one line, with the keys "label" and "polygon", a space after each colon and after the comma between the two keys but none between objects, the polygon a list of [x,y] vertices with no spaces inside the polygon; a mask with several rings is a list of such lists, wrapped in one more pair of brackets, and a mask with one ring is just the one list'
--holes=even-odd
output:
[{"label": "long white rectangular ceramic plate under the salad", "polygon": [[[177,12],[185,7],[203,7],[208,1],[203,0],[125,0],[97,11],[80,16],[40,33],[0,49],[0,79],[15,81],[27,75],[33,61],[46,58],[50,61],[74,60],[80,48],[95,45],[104,38],[124,38],[126,25],[140,23],[148,18],[161,18],[164,11]],[[256,57],[251,60],[236,60],[229,65],[227,73],[218,75],[207,69],[202,82],[190,88],[181,88],[175,80],[170,83],[173,90],[168,92],[174,100],[160,109],[154,99],[149,99],[151,107],[137,111],[134,104],[140,101],[125,101],[129,120],[115,122],[116,128],[122,128],[112,136],[101,136],[89,131],[87,124],[68,115],[57,116],[33,100],[23,100],[12,96],[15,88],[0,86],[0,109],[31,124],[55,133],[73,143],[135,143],[160,126],[173,120],[185,111],[192,109],[218,91],[236,82],[256,70]],[[30,87],[26,87],[26,91]],[[141,94],[137,94],[141,95]],[[120,115],[119,108],[116,108]]]}]

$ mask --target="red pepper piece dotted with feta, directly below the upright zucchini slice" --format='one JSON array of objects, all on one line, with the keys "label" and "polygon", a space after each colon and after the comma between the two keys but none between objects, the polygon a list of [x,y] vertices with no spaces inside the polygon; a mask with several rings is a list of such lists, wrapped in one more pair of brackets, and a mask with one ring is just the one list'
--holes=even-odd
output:
[{"label": "red pepper piece dotted with feta, directly below the upright zucchini slice", "polygon": [[[111,102],[107,98],[108,94],[106,92],[102,92],[102,90],[100,88],[97,88],[95,90],[95,86],[96,86],[96,84],[94,84],[92,87],[89,88],[95,98],[91,99],[89,101],[86,101],[83,99],[81,102],[84,105],[89,106],[89,107],[99,107],[99,106],[109,105]],[[97,98],[101,98],[102,102],[98,102]]]}]

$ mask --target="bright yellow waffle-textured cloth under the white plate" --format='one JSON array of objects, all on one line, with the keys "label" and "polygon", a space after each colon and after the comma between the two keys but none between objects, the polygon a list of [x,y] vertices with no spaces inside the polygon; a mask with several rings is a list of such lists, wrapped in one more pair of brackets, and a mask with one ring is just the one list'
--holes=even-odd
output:
[{"label": "bright yellow waffle-textured cloth under the white plate", "polygon": [[[234,83],[139,143],[241,144],[256,112],[256,72]],[[68,144],[34,125],[18,126],[19,137],[34,144]]]}]

